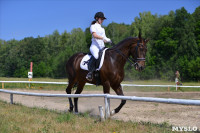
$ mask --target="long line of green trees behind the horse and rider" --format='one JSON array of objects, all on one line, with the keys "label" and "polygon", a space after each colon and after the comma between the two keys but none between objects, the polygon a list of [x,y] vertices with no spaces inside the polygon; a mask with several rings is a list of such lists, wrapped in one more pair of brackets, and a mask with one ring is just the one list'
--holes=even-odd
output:
[{"label": "long line of green trees behind the horse and rider", "polygon": [[[107,37],[117,44],[127,37],[150,39],[146,68],[137,72],[125,65],[125,78],[174,80],[179,70],[182,80],[200,80],[200,6],[190,14],[182,7],[167,15],[139,13],[132,24],[115,22],[104,26]],[[71,32],[55,30],[45,37],[27,37],[22,40],[0,40],[0,76],[27,77],[33,62],[34,77],[67,77],[66,61],[77,52],[89,52],[91,33],[75,28]],[[111,47],[106,44],[107,47]]]}]

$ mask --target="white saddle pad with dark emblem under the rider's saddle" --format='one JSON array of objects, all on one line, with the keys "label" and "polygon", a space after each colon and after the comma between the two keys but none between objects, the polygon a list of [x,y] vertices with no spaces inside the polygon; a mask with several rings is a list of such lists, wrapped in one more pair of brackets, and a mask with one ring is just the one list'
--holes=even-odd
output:
[{"label": "white saddle pad with dark emblem under the rider's saddle", "polygon": [[[100,70],[101,67],[103,66],[105,51],[106,51],[107,49],[108,49],[108,48],[105,48],[105,49],[103,50],[103,54],[102,54],[102,58],[101,58],[101,61],[100,61],[99,68],[96,69],[96,70]],[[91,55],[88,55],[88,54],[85,55],[85,56],[83,57],[83,59],[81,60],[81,63],[80,63],[81,69],[83,69],[83,70],[88,70],[88,60],[89,60],[90,58],[91,58]]]}]

